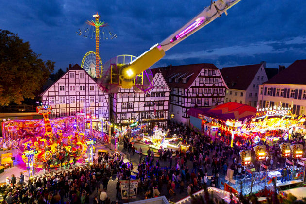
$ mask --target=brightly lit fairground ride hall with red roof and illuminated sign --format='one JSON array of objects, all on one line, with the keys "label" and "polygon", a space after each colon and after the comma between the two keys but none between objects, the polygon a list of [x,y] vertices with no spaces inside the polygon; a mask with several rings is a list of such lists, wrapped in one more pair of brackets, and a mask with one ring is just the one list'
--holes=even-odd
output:
[{"label": "brightly lit fairground ride hall with red roof and illuminated sign", "polygon": [[292,114],[290,107],[256,109],[236,102],[191,108],[187,114],[191,128],[231,146],[260,140],[273,145],[280,137],[290,140],[294,128],[305,122],[305,117]]}]

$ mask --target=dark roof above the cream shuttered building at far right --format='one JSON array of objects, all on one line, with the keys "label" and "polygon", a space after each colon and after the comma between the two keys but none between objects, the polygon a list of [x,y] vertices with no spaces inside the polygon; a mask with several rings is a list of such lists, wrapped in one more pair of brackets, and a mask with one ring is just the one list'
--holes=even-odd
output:
[{"label": "dark roof above the cream shuttered building at far right", "polygon": [[264,84],[306,85],[306,59],[296,60]]}]

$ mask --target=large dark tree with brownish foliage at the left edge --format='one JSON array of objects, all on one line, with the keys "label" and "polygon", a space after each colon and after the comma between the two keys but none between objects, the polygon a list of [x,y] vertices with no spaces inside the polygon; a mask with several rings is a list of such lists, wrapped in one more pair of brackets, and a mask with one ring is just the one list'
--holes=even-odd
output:
[{"label": "large dark tree with brownish foliage at the left edge", "polygon": [[54,62],[43,61],[29,42],[0,29],[0,105],[21,104],[24,98],[35,97],[54,70]]}]

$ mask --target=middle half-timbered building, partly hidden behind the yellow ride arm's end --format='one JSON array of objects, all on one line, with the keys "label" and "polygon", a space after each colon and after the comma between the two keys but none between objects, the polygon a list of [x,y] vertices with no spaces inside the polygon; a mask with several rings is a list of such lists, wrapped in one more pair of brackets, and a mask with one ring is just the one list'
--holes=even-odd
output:
[{"label": "middle half-timbered building, partly hidden behind the yellow ride arm's end", "polygon": [[149,126],[164,127],[168,121],[170,89],[159,69],[151,69],[153,89],[145,94],[138,88],[120,88],[118,93],[111,94],[111,121],[118,125],[132,122],[148,123]]}]

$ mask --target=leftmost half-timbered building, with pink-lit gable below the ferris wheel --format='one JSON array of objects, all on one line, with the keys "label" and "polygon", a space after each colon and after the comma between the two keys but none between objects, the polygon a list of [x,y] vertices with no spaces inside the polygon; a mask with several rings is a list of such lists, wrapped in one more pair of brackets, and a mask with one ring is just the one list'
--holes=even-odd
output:
[{"label": "leftmost half-timbered building, with pink-lit gable below the ferris wheel", "polygon": [[[78,64],[71,64],[67,72],[40,95],[43,104],[52,106],[50,118],[85,113],[94,118],[109,119],[109,96],[102,92],[92,78]],[[98,128],[98,123],[93,122]]]}]

